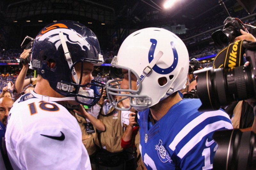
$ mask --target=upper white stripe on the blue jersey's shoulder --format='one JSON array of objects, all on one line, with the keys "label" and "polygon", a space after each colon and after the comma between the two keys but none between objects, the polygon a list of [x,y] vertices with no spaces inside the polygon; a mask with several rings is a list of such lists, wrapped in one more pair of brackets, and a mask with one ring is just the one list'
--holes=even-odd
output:
[{"label": "upper white stripe on the blue jersey's shoulder", "polygon": [[[188,135],[188,133],[191,131],[191,129],[194,129],[198,124],[200,124],[201,122],[203,122],[205,119],[209,118],[209,117],[213,117],[213,116],[224,116],[228,119],[230,119],[228,117],[228,114],[226,114],[225,112],[222,112],[220,110],[216,110],[216,111],[210,111],[210,112],[205,112],[199,116],[197,116],[194,120],[192,120],[191,122],[189,122],[183,129],[180,130],[180,132],[175,136],[175,138],[173,139],[172,143],[169,145],[170,149],[172,151],[175,150],[177,144],[179,144],[179,142],[186,136]],[[231,124],[230,124],[231,125]],[[228,128],[230,129],[230,128]]]}]

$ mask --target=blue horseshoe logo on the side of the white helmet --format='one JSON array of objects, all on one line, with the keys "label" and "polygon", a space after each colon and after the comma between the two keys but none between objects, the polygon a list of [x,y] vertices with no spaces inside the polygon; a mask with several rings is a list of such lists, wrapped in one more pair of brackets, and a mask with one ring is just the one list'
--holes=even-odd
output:
[{"label": "blue horseshoe logo on the side of the white helmet", "polygon": [[[148,62],[149,63],[154,59],[154,53],[155,53],[156,44],[157,44],[156,39],[150,39],[150,42],[152,43],[152,45],[151,45],[151,47],[149,49],[149,52],[148,52]],[[152,69],[154,71],[156,71],[158,74],[169,74],[176,68],[176,66],[178,64],[178,53],[177,53],[177,50],[174,46],[173,41],[171,41],[171,47],[172,47],[172,52],[173,52],[173,56],[174,56],[173,63],[170,67],[168,67],[166,69],[160,68],[157,65],[155,65]]]}]

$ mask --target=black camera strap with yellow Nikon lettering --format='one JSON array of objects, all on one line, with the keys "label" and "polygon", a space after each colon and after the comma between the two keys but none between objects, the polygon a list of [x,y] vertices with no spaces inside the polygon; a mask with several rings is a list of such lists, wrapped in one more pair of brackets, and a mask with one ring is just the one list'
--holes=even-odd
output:
[{"label": "black camera strap with yellow Nikon lettering", "polygon": [[213,68],[235,68],[244,65],[244,48],[242,46],[244,40],[239,40],[223,48],[216,55],[213,62]]}]

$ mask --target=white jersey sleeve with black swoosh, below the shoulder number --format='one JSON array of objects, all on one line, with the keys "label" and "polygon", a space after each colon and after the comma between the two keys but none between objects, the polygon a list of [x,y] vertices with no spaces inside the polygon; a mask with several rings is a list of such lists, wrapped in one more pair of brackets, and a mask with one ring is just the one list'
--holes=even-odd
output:
[{"label": "white jersey sleeve with black swoosh, below the shoulder number", "polygon": [[16,146],[24,169],[91,170],[81,131],[60,126],[35,129],[22,137]]}]

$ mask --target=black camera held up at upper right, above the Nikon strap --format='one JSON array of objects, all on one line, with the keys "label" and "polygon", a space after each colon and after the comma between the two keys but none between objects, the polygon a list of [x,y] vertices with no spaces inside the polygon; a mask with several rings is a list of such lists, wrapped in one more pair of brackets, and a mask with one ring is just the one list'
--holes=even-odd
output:
[{"label": "black camera held up at upper right, above the Nikon strap", "polygon": [[228,46],[237,36],[242,35],[240,29],[244,31],[248,30],[249,33],[256,36],[256,27],[244,24],[239,18],[228,17],[224,21],[223,29],[212,33],[214,44],[217,48]]}]

